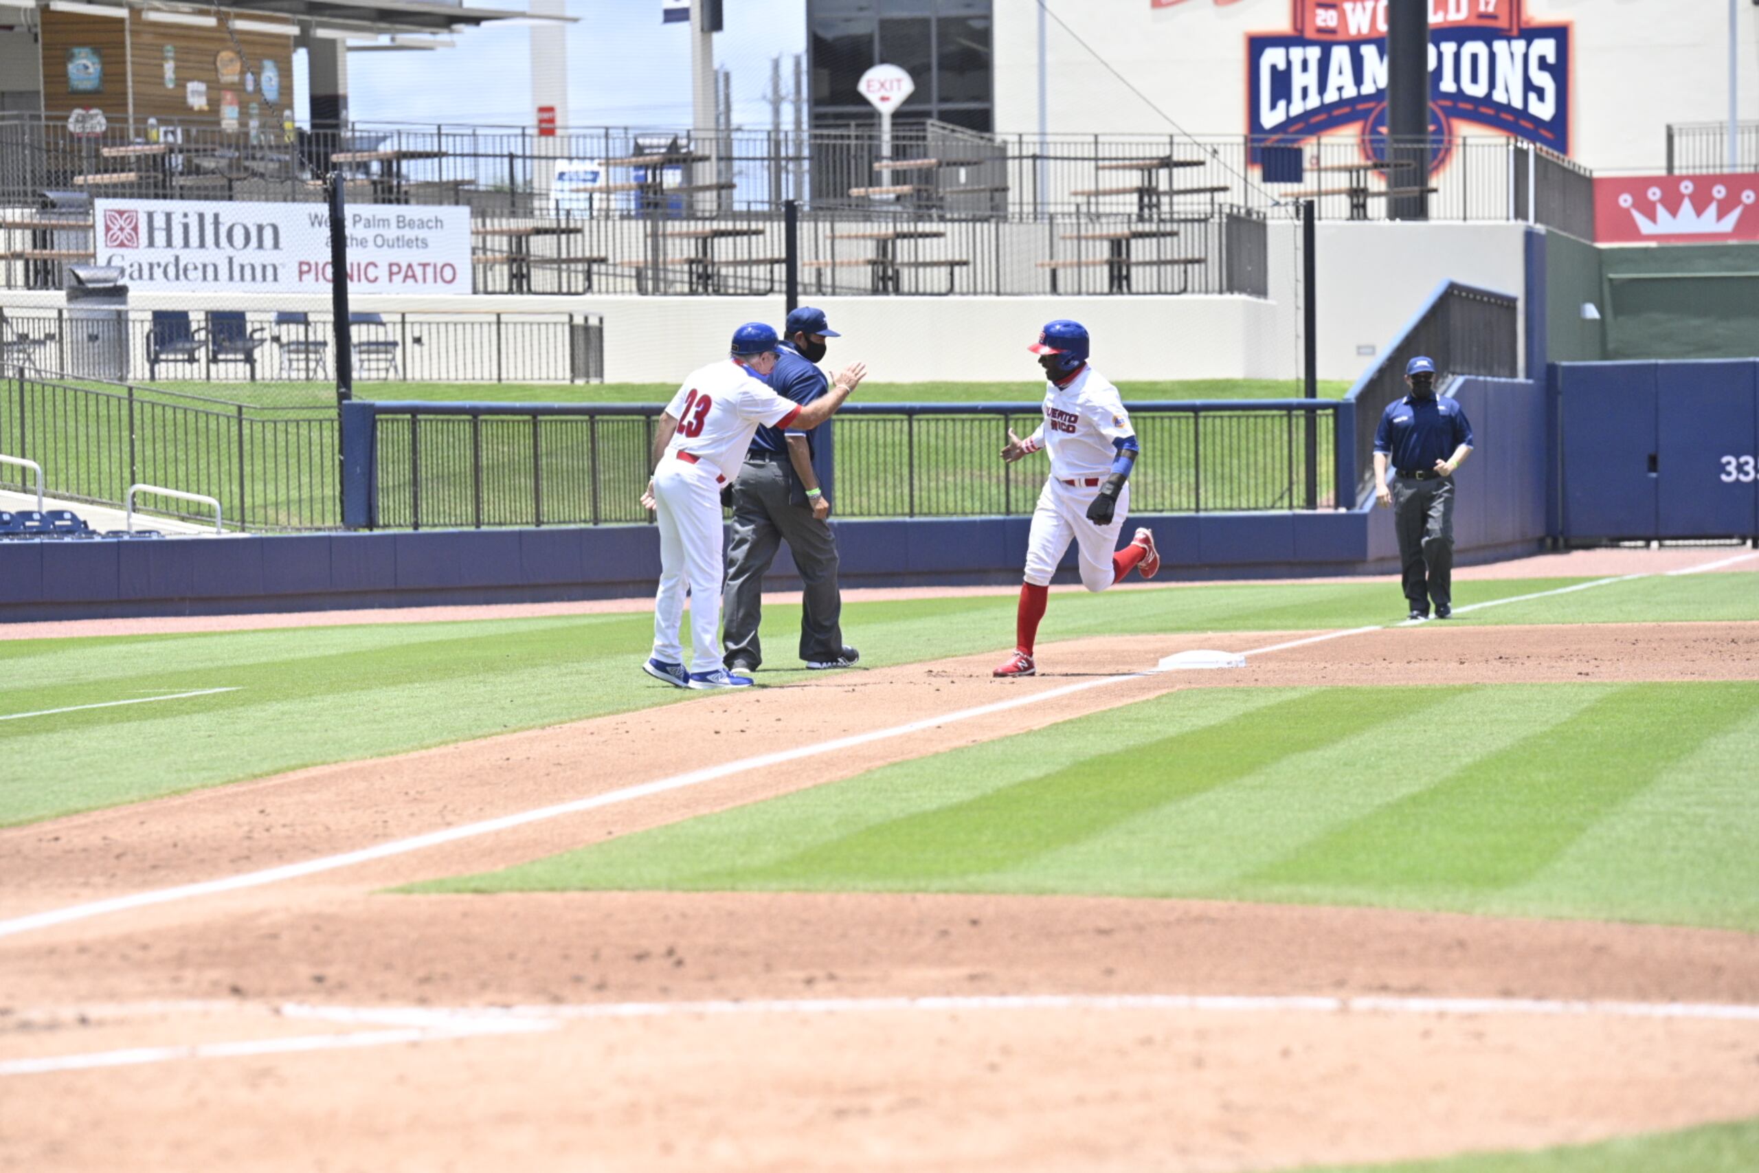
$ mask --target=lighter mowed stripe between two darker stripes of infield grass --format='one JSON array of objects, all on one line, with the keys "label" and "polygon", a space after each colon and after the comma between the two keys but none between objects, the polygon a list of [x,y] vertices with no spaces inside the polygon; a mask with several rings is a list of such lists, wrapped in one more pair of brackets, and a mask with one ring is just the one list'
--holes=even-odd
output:
[{"label": "lighter mowed stripe between two darker stripes of infield grass", "polygon": [[[1091,883],[1092,876],[1103,876],[1112,860],[1157,860],[1170,892],[1233,893],[1245,876],[1402,800],[1428,779],[1474,769],[1504,746],[1594,703],[1602,691],[1578,686],[1548,689],[1536,698],[1532,689],[1518,686],[1363,689],[1361,707],[1381,712],[1383,719],[1360,733],[1282,754],[1233,783],[1191,795],[1177,820],[1133,820],[1048,856],[1031,878],[997,878],[996,883],[1069,890],[1084,878]],[[1205,698],[1186,693],[1180,707]],[[1472,730],[1472,735],[1428,739],[1416,756],[1418,769],[1400,769],[1388,760],[1388,747],[1404,744],[1411,730],[1437,726]],[[1274,739],[1272,732],[1266,740]],[[1168,758],[1164,767],[1175,772],[1182,761]]]}]

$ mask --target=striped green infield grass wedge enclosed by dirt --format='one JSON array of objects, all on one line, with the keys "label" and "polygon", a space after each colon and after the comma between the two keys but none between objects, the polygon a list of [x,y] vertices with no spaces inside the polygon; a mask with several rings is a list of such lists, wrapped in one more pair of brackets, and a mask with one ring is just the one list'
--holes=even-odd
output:
[{"label": "striped green infield grass wedge enclosed by dirt", "polygon": [[[1759,684],[1180,691],[422,890],[1064,892],[1752,929],[1759,886],[1745,860],[1692,872],[1650,862],[1689,851],[1708,818],[1750,818],[1747,795],[1687,763],[1755,719]],[[1467,749],[1430,774],[1437,742]],[[1558,753],[1536,756],[1536,744]],[[1295,761],[1309,774],[1291,774]],[[1690,820],[1657,812],[1643,842],[1617,842],[1550,900],[1520,892],[1662,774]],[[1223,805],[1270,776],[1277,791]],[[1266,860],[1252,844],[1275,798],[1282,853]],[[1214,841],[1244,844],[1256,869]],[[1627,895],[1632,869],[1671,883]]]}]

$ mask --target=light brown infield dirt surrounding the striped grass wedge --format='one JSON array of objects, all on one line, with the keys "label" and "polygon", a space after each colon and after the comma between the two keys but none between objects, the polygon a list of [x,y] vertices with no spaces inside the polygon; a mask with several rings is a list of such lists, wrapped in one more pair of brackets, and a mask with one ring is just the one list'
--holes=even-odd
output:
[{"label": "light brown infield dirt surrounding the striped grass wedge", "polygon": [[[1133,637],[301,770],[0,832],[0,914],[237,874],[880,730],[1189,647]],[[786,772],[0,941],[5,1057],[310,1032],[281,1002],[971,994],[1759,1002],[1759,937],[1384,909],[952,895],[373,895],[1177,688],[1759,679],[1759,624],[1386,630],[1142,675]],[[693,739],[677,737],[690,721]],[[705,749],[707,746],[707,749]],[[197,1004],[178,1008],[183,1001]],[[1759,1024],[1193,1009],[660,1013],[531,1036],[5,1078],[0,1168],[1249,1169],[1759,1115]]]}]

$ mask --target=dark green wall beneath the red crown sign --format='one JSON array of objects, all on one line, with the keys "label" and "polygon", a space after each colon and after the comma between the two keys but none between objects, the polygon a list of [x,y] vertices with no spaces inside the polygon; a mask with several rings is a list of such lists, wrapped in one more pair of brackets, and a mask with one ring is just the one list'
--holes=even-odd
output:
[{"label": "dark green wall beneath the red crown sign", "polygon": [[[1595,246],[1546,232],[1551,362],[1759,357],[1759,244]],[[1583,320],[1592,302],[1601,320]]]}]

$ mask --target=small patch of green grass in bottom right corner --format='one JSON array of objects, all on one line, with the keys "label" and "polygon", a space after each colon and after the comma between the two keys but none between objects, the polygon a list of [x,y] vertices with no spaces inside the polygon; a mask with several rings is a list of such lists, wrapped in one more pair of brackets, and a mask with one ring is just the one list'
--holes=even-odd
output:
[{"label": "small patch of green grass in bottom right corner", "polygon": [[1622,1136],[1597,1145],[1479,1152],[1395,1164],[1300,1166],[1284,1173],[1752,1173],[1754,1169],[1759,1169],[1759,1120]]}]

